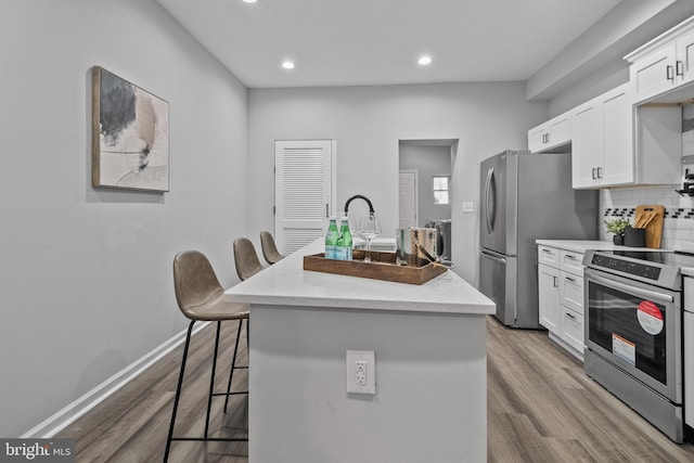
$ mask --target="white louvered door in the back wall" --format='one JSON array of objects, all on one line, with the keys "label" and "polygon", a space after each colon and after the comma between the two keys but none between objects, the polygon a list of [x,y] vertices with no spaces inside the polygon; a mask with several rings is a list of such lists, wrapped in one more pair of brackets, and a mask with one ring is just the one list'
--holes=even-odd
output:
[{"label": "white louvered door in the back wall", "polygon": [[275,141],[274,230],[291,254],[325,233],[334,210],[332,140]]}]

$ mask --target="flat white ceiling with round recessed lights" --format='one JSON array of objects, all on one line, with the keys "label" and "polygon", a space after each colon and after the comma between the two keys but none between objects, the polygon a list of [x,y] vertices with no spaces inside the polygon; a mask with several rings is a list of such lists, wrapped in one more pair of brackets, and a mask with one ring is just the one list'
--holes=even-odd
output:
[{"label": "flat white ceiling with round recessed lights", "polygon": [[524,81],[620,2],[157,1],[248,88]]}]

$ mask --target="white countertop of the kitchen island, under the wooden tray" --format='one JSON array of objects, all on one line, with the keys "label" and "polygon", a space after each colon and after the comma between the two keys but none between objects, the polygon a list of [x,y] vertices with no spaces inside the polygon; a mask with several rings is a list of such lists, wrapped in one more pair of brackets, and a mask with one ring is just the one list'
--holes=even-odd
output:
[{"label": "white countertop of the kitchen island, under the wooden tray", "polygon": [[334,307],[428,313],[494,313],[494,303],[448,270],[422,285],[304,270],[304,256],[323,239],[226,291],[228,300],[257,305]]}]

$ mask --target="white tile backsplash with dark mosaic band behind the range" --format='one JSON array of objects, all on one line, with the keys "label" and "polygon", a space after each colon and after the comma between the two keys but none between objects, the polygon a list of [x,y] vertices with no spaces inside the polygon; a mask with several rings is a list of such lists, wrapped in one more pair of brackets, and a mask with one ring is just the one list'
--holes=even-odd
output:
[{"label": "white tile backsplash with dark mosaic band behind the range", "polygon": [[694,253],[694,198],[680,196],[674,192],[676,188],[672,185],[602,190],[601,240],[612,240],[612,233],[607,233],[605,229],[605,220],[626,217],[633,223],[638,205],[663,205],[665,220],[660,247]]}]

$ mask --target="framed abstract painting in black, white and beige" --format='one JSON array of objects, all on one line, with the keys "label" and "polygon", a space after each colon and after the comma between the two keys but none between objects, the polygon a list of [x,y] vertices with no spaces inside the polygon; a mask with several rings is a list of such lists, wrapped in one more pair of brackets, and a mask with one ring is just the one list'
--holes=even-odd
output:
[{"label": "framed abstract painting in black, white and beige", "polygon": [[169,191],[169,104],[92,69],[92,185]]}]

